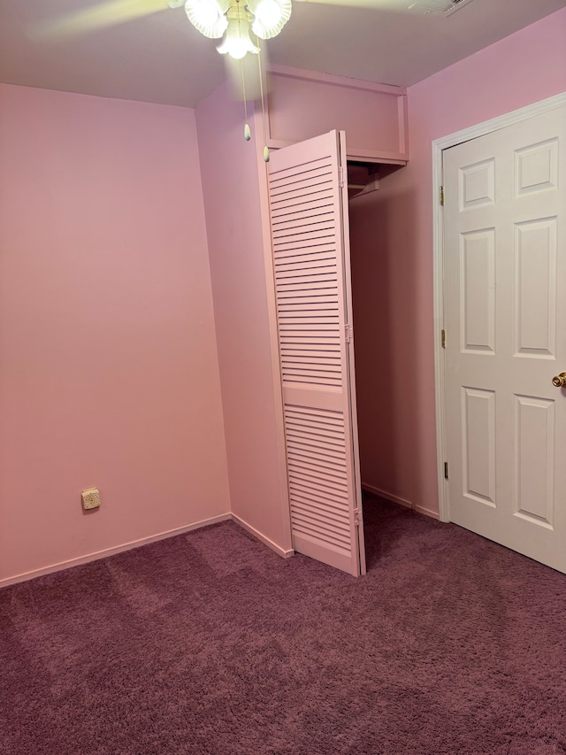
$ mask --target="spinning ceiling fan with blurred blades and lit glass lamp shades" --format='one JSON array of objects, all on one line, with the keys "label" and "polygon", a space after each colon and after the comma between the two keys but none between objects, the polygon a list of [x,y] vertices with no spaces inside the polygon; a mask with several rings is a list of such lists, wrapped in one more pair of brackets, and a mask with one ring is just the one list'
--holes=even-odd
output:
[{"label": "spinning ceiling fan with blurred blades and lit glass lamp shades", "polygon": [[[450,12],[470,0],[293,0],[293,2],[347,5],[398,12]],[[218,52],[232,58],[258,53],[250,32],[267,40],[279,35],[291,16],[291,0],[107,0],[79,11],[47,19],[29,30],[36,40],[55,40],[111,27],[185,5],[187,17],[206,37],[220,39]]]}]

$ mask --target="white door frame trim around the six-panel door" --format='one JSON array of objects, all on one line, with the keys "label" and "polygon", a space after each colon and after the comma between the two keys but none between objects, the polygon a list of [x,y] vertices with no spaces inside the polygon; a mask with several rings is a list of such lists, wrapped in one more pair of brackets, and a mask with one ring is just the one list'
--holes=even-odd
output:
[{"label": "white door frame trim around the six-panel door", "polygon": [[511,126],[566,104],[566,92],[548,97],[538,103],[527,105],[519,110],[505,113],[498,118],[486,120],[476,126],[456,131],[432,142],[432,266],[434,275],[434,384],[436,398],[436,449],[438,455],[439,514],[440,521],[450,521],[448,482],[444,476],[444,461],[447,459],[447,416],[445,387],[445,354],[442,347],[444,327],[444,218],[440,205],[442,186],[442,150],[456,144],[470,142],[478,136]]}]

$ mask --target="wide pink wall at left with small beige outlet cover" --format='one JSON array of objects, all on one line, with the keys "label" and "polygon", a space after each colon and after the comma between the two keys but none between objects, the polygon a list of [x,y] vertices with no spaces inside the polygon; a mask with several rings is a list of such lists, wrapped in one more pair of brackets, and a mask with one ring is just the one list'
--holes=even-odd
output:
[{"label": "wide pink wall at left with small beige outlet cover", "polygon": [[0,176],[1,584],[230,505],[194,112],[3,85]]}]

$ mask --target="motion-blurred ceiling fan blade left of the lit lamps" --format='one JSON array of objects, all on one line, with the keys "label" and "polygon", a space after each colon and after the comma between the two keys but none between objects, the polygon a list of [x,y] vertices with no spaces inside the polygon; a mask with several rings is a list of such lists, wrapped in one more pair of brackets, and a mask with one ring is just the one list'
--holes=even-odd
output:
[{"label": "motion-blurred ceiling fan blade left of the lit lamps", "polygon": [[105,27],[149,16],[172,6],[167,0],[110,0],[80,11],[45,19],[27,30],[27,36],[38,41],[57,40],[88,34]]}]

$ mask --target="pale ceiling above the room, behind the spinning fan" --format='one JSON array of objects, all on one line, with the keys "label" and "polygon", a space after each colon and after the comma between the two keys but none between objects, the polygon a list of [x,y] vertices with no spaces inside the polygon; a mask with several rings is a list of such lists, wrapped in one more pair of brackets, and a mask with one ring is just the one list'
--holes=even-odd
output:
[{"label": "pale ceiling above the room, behind the spinning fan", "polygon": [[[409,11],[411,0],[365,2],[386,7],[294,2],[287,26],[267,43],[272,63],[410,86],[566,6],[472,0],[445,17]],[[195,107],[224,80],[218,41],[200,35],[182,7],[58,42],[26,35],[40,19],[93,4],[0,0],[0,81]]]}]

